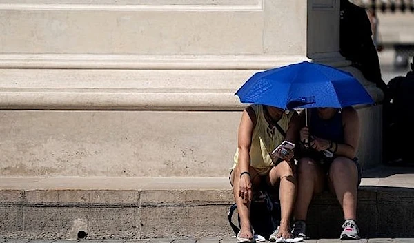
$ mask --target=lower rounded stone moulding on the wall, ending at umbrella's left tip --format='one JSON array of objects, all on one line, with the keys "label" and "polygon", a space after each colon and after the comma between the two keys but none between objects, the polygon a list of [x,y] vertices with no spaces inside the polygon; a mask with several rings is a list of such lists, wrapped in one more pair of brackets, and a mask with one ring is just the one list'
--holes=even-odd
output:
[{"label": "lower rounded stone moulding on the wall, ending at umbrella's left tip", "polygon": [[3,110],[243,110],[232,93],[152,90],[0,90]]}]

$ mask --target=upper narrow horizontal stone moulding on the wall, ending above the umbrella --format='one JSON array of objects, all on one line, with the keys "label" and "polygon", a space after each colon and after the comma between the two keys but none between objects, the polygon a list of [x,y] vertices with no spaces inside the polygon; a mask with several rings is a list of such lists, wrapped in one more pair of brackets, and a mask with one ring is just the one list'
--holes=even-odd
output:
[{"label": "upper narrow horizontal stone moulding on the wall, ending above the umbrella", "polygon": [[[302,55],[1,54],[0,68],[266,70],[300,61],[310,61],[310,59]],[[341,64],[344,66],[344,63]]]}]

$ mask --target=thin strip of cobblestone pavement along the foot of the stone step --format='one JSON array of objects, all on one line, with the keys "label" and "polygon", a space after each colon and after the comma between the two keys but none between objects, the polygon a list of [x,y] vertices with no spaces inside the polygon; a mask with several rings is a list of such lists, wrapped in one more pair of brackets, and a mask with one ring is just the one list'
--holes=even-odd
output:
[{"label": "thin strip of cobblestone pavement along the foot of the stone step", "polygon": [[[234,237],[229,238],[202,238],[202,239],[172,239],[172,238],[155,238],[155,239],[141,239],[141,240],[0,240],[0,243],[236,243]],[[414,238],[375,238],[375,239],[361,239],[361,240],[336,240],[336,239],[322,239],[322,240],[305,240],[304,243],[408,243],[413,242]],[[269,242],[264,242],[269,243]]]}]

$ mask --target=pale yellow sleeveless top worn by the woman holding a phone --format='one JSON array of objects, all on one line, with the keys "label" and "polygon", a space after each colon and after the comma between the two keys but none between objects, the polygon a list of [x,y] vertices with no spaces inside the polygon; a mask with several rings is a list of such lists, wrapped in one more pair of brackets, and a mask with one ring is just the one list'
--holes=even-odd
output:
[{"label": "pale yellow sleeveless top worn by the woman holding a phone", "polygon": [[[275,166],[269,153],[279,146],[284,140],[284,136],[279,133],[276,127],[270,128],[268,122],[264,118],[263,106],[252,105],[256,114],[256,126],[253,129],[252,144],[250,146],[250,166],[255,168],[259,175],[266,175],[270,169]],[[285,131],[293,112],[283,113],[282,118],[277,122]],[[230,169],[234,169],[239,160],[239,149],[237,148],[234,156],[234,164]]]}]

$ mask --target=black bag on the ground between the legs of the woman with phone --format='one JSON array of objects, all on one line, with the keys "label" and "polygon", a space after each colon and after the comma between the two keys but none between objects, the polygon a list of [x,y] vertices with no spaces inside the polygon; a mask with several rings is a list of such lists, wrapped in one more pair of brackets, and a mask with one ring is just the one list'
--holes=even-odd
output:
[{"label": "black bag on the ground between the legs of the woman with phone", "polygon": [[[235,235],[240,231],[240,217],[237,215],[239,226],[236,226],[233,221],[233,212],[237,209],[237,205],[230,206],[228,211],[228,222],[235,232]],[[262,235],[266,239],[275,231],[280,223],[280,204],[279,198],[274,200],[270,197],[267,191],[258,191],[257,195],[253,196],[250,206],[250,224],[252,224],[255,234]]]}]

